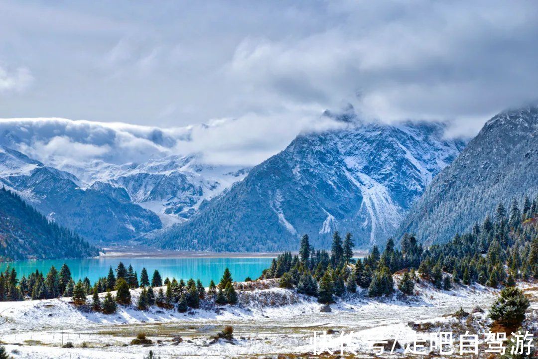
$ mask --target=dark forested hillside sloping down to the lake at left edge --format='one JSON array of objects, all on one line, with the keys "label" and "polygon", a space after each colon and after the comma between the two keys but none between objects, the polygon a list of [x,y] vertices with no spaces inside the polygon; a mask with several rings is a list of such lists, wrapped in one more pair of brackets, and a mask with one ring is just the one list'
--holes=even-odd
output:
[{"label": "dark forested hillside sloping down to the lake at left edge", "polygon": [[0,189],[0,261],[96,256],[98,250]]}]

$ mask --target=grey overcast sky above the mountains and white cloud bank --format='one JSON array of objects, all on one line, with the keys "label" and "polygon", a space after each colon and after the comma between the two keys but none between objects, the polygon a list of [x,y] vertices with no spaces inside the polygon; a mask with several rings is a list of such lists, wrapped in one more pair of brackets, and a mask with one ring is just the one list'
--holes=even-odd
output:
[{"label": "grey overcast sky above the mountains and white cloud bank", "polygon": [[271,153],[348,103],[475,134],[537,84],[531,0],[0,1],[0,118],[237,119]]}]

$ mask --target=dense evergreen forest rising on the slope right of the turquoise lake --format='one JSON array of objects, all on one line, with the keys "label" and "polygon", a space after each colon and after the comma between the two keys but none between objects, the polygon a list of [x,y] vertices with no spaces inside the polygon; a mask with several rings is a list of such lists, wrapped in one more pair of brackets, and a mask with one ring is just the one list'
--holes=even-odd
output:
[{"label": "dense evergreen forest rising on the slope right of the turquoise lake", "polygon": [[391,295],[395,291],[392,275],[400,271],[405,273],[398,290],[404,295],[412,295],[414,284],[422,280],[443,290],[455,283],[514,286],[518,279],[538,279],[537,203],[538,198],[519,198],[508,212],[499,204],[494,218],[486,216],[469,233],[441,245],[424,247],[413,235],[405,234],[400,249],[390,239],[383,252],[374,246],[355,265],[351,265],[355,262],[351,234],[342,240],[336,232],[330,254],[314,250],[308,236],[303,236],[299,256],[280,255],[263,277],[280,278],[282,287],[316,296],[321,303],[355,292],[357,286],[367,289],[371,297]]}]

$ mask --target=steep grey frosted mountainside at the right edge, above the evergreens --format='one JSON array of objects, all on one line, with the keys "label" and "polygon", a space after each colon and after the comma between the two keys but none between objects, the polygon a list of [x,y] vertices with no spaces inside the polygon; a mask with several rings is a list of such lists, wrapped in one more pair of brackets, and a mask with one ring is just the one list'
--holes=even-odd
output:
[{"label": "steep grey frosted mountainside at the right edge, above the evergreens", "polygon": [[409,211],[399,233],[444,242],[482,221],[498,203],[538,192],[538,105],[497,114]]}]

